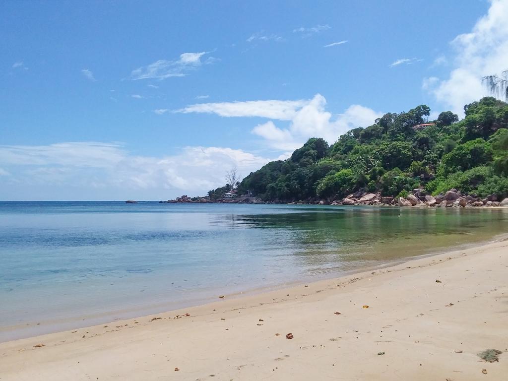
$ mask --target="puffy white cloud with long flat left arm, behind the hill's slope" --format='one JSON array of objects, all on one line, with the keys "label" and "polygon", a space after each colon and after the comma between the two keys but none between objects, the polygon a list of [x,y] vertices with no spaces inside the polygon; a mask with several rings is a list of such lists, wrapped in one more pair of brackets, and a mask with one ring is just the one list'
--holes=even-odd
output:
[{"label": "puffy white cloud with long flat left arm, behind the hill's slope", "polygon": [[382,114],[360,105],[348,107],[342,114],[332,115],[325,110],[326,99],[316,94],[311,100],[298,101],[247,101],[231,103],[204,103],[176,110],[182,113],[213,113],[223,117],[262,117],[289,121],[286,129],[278,128],[273,121],[258,124],[252,133],[279,150],[300,147],[310,137],[322,137],[329,143],[359,126],[368,126]]}]

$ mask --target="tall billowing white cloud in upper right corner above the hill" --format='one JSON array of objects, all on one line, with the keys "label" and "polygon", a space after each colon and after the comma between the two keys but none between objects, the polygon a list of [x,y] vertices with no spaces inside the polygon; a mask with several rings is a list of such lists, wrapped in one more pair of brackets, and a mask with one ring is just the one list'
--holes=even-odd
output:
[{"label": "tall billowing white cloud in upper right corner above the hill", "polygon": [[474,25],[470,33],[452,41],[455,49],[454,69],[441,80],[432,93],[436,99],[459,115],[463,106],[488,92],[482,77],[499,75],[508,69],[508,0],[492,0],[490,8]]}]

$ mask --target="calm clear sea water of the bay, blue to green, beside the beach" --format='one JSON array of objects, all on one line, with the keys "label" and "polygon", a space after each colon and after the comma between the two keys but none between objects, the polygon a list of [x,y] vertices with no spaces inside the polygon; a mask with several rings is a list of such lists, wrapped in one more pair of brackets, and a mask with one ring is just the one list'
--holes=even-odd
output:
[{"label": "calm clear sea water of the bay, blue to green, beside the beach", "polygon": [[508,210],[495,208],[0,202],[0,341],[332,277],[507,228]]}]

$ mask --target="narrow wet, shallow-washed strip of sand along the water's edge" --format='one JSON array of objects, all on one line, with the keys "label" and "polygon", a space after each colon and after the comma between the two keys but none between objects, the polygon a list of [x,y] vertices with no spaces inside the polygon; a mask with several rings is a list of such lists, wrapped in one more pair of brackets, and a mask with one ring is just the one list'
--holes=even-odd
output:
[{"label": "narrow wet, shallow-washed strip of sand along the water's edge", "polygon": [[[346,276],[355,276],[357,274],[361,274],[364,272],[369,271],[378,271],[383,269],[390,269],[392,267],[395,267],[397,265],[402,265],[404,263],[408,263],[411,261],[419,260],[422,258],[429,258],[439,255],[444,255],[447,252],[449,252],[451,249],[456,250],[463,250],[463,249],[470,249],[470,248],[476,248],[481,247],[489,243],[497,242],[502,239],[508,239],[508,234],[497,234],[493,237],[489,237],[488,239],[484,239],[477,242],[468,242],[461,245],[453,245],[453,246],[446,246],[441,248],[434,248],[431,249],[432,251],[429,251],[427,253],[419,254],[416,256],[409,256],[409,257],[401,257],[397,259],[390,259],[390,260],[384,260],[382,263],[373,264],[371,262],[377,262],[375,260],[368,261],[367,263],[363,263],[359,265],[357,268],[349,269],[349,270],[342,270],[339,272],[330,272],[329,274],[323,275],[321,277],[317,277],[316,280],[307,281],[304,282],[303,280],[289,280],[278,284],[272,284],[268,286],[259,286],[259,287],[252,287],[247,288],[240,292],[231,292],[231,293],[224,293],[224,296],[229,298],[229,300],[241,300],[248,297],[256,297],[260,296],[266,293],[270,292],[276,292],[276,291],[284,291],[287,289],[291,289],[294,287],[302,286],[304,284],[314,284],[317,282],[326,282],[326,281],[332,281],[335,279],[341,279]],[[197,303],[196,303],[197,302]],[[215,300],[212,300],[210,298],[205,299],[196,299],[194,302],[190,302],[193,304],[189,304],[187,306],[178,306],[175,308],[166,308],[165,306],[170,306],[171,304],[174,304],[173,302],[161,302],[157,304],[151,304],[151,305],[145,305],[140,307],[131,307],[131,308],[124,308],[124,309],[118,309],[118,310],[104,310],[100,313],[90,314],[90,315],[81,315],[76,317],[63,317],[61,319],[54,319],[51,321],[44,321],[40,320],[42,325],[40,323],[37,323],[37,325],[30,325],[25,323],[20,323],[18,325],[11,325],[11,326],[5,326],[0,327],[0,333],[6,333],[6,336],[8,339],[0,340],[0,344],[10,342],[10,341],[16,341],[16,340],[22,340],[22,339],[28,339],[38,336],[45,336],[50,334],[56,334],[59,332],[65,332],[69,330],[76,330],[76,329],[84,329],[84,328],[90,328],[90,327],[96,327],[101,326],[103,324],[112,324],[112,322],[118,322],[118,321],[128,321],[132,319],[140,319],[142,317],[147,317],[155,314],[162,314],[162,313],[171,313],[173,311],[181,311],[183,309],[189,309],[189,308],[196,308],[196,307],[203,307],[208,304],[215,303]],[[117,317],[119,316],[119,317]],[[79,324],[79,322],[82,321],[82,324]],[[52,328],[51,328],[52,327]],[[9,338],[8,333],[13,331],[21,331],[25,333],[21,333],[19,335],[10,335],[12,338]]]}]

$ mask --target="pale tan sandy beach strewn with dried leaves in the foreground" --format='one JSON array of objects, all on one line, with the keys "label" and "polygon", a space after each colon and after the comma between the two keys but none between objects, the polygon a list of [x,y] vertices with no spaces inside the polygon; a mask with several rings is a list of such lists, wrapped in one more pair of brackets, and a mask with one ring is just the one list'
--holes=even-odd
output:
[{"label": "pale tan sandy beach strewn with dried leaves in the foreground", "polygon": [[[503,240],[308,287],[0,343],[0,379],[506,380],[507,297]],[[477,356],[486,348],[503,351],[499,362]]]}]

